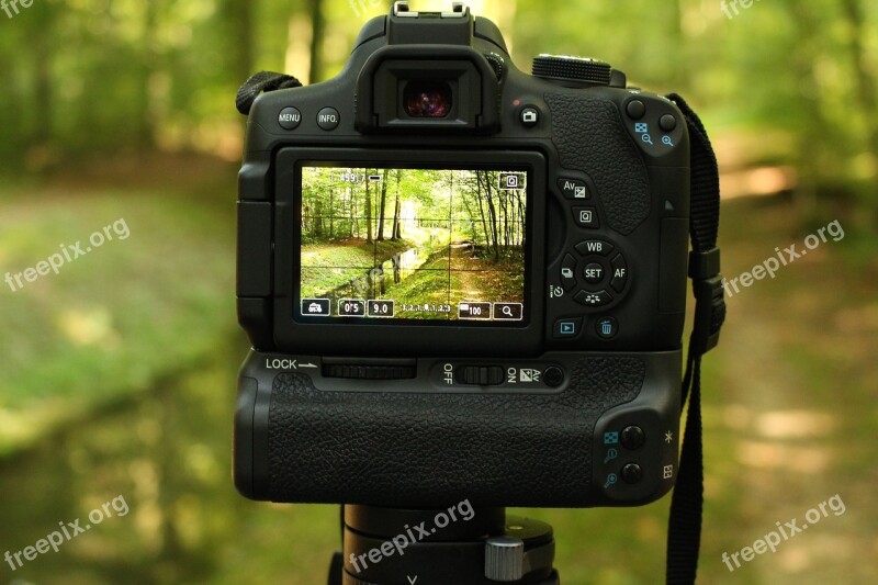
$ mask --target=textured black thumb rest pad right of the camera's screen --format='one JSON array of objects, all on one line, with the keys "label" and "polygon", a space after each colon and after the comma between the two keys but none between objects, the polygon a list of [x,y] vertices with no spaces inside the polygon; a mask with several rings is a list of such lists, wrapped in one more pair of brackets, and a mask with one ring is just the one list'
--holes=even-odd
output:
[{"label": "textured black thumb rest pad right of the camera's screen", "polygon": [[607,222],[629,235],[650,214],[646,165],[622,127],[614,102],[582,94],[547,93],[552,142],[561,166],[595,182]]}]

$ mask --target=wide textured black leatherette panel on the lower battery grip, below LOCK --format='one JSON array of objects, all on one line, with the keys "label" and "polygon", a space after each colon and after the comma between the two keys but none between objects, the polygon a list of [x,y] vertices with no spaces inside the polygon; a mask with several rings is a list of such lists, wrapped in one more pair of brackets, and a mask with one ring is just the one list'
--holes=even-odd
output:
[{"label": "wide textured black leatherette panel on the lower battery grip, below LOCK", "polygon": [[266,495],[414,508],[464,498],[585,505],[595,423],[638,395],[645,364],[583,358],[571,374],[559,394],[464,394],[325,392],[306,375],[281,373]]}]

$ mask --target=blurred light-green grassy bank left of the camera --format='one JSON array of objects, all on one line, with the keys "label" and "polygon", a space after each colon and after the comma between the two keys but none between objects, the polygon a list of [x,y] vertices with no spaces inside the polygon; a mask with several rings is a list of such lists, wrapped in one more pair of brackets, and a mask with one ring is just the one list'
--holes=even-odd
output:
[{"label": "blurred light-green grassy bank left of the camera", "polygon": [[15,291],[2,283],[0,455],[148,389],[234,330],[232,217],[190,199],[22,188],[4,203],[0,250],[13,279],[59,243],[86,251],[92,233],[120,218],[130,235]]}]

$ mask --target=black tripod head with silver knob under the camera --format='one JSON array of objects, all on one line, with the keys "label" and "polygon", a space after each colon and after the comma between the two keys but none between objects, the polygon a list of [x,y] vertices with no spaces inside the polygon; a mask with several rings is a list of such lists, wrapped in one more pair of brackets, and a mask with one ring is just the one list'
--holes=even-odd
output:
[{"label": "black tripod head with silver knob under the camera", "polygon": [[342,506],[329,585],[560,585],[552,527],[502,507]]}]

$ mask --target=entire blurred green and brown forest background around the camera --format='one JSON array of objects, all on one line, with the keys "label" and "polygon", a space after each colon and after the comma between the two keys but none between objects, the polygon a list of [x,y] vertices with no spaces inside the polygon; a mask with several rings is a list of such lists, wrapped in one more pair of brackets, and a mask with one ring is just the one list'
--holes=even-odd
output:
[{"label": "entire blurred green and brown forest background around the camera", "polygon": [[[703,382],[700,574],[877,582],[878,4],[469,4],[525,70],[538,53],[586,55],[687,97],[720,157],[728,277],[844,227],[728,299]],[[131,237],[19,290],[0,283],[0,554],[117,495],[131,514],[14,571],[0,563],[0,582],[322,583],[336,508],[249,503],[229,477],[246,351],[233,299],[234,97],[257,70],[334,76],[389,2],[3,5],[0,275],[120,218]],[[720,560],[836,493],[844,515],[735,572]],[[555,527],[564,583],[656,583],[668,503],[528,513]]]}]

